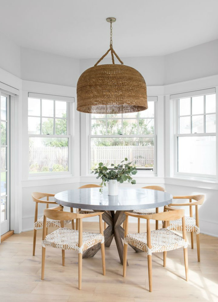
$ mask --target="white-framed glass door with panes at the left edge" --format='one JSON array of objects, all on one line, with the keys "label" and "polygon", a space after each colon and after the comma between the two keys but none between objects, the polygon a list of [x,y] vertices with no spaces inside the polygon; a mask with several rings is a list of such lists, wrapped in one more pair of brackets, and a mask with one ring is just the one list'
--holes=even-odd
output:
[{"label": "white-framed glass door with panes at the left edge", "polygon": [[10,95],[1,93],[1,235],[10,230]]}]

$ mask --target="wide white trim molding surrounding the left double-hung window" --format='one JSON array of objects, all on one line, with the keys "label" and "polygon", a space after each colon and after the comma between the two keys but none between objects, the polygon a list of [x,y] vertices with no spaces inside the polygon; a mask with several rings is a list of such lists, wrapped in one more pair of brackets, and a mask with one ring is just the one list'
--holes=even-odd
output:
[{"label": "wide white trim molding surrounding the left double-hung window", "polygon": [[[26,184],[28,181],[36,181],[40,179],[56,179],[55,182],[57,182],[57,179],[60,179],[62,177],[69,178],[69,177],[79,177],[80,176],[80,163],[78,161],[78,158],[80,158],[80,133],[78,131],[78,124],[80,124],[80,115],[79,112],[76,110],[77,106],[77,98],[76,98],[76,88],[75,87],[68,87],[68,86],[62,86],[62,85],[55,85],[55,84],[47,84],[47,83],[39,83],[39,82],[33,82],[33,81],[22,81],[22,122],[23,122],[23,146],[24,150],[22,153],[22,167],[23,167],[23,173],[22,173],[22,184]],[[69,119],[69,128],[71,129],[71,173],[49,173],[49,175],[43,175],[40,173],[40,175],[37,177],[36,175],[29,174],[29,167],[28,167],[28,161],[26,158],[28,158],[28,140],[29,140],[29,134],[28,134],[28,92],[32,93],[32,95],[36,94],[44,94],[44,95],[56,95],[56,96],[65,96],[66,100],[70,101],[72,98],[74,99],[74,103],[71,106],[71,109],[69,111],[69,114],[71,115],[71,118]],[[73,108],[74,107],[74,108]],[[33,182],[34,183],[34,182]]]}]

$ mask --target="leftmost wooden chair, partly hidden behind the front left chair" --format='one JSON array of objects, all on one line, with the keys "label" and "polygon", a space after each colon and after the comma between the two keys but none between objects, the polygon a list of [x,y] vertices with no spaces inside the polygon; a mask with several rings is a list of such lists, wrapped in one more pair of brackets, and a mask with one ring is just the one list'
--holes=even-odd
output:
[{"label": "leftmost wooden chair, partly hidden behind the front left chair", "polygon": [[[32,199],[33,201],[36,203],[35,204],[35,218],[34,218],[34,233],[33,233],[33,256],[35,256],[35,244],[36,244],[36,231],[38,229],[42,229],[43,228],[43,216],[41,216],[40,218],[38,218],[38,203],[44,203],[46,204],[46,208],[48,209],[48,205],[57,205],[56,202],[54,201],[49,201],[49,197],[53,197],[54,194],[49,194],[49,193],[40,193],[40,192],[33,192],[32,193]],[[41,200],[42,198],[45,198],[46,200]],[[71,212],[73,212],[73,208],[71,208]],[[70,221],[64,221],[64,225],[70,223]],[[72,224],[72,228],[74,229],[74,221],[71,221]],[[47,220],[47,232],[48,232],[48,227],[60,227],[61,226],[61,222],[58,220],[52,220],[52,219],[48,219]]]}]

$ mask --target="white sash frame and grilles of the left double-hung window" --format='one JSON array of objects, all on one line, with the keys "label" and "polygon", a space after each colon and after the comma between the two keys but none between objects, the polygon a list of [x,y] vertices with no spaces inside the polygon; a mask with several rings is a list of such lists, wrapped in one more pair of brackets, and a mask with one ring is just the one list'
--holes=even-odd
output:
[{"label": "white sash frame and grilles of the left double-hung window", "polygon": [[[30,173],[29,171],[29,157],[28,157],[28,178],[35,178],[40,176],[70,176],[72,175],[73,167],[72,167],[72,134],[73,134],[73,112],[74,112],[74,98],[71,97],[61,97],[55,95],[46,95],[41,93],[28,93],[28,98],[40,98],[40,125],[42,125],[42,104],[41,100],[58,100],[67,103],[67,135],[56,135],[56,134],[29,134],[28,133],[28,142],[30,137],[50,137],[50,138],[68,138],[68,171],[58,171],[58,172],[39,172],[39,173]],[[72,100],[73,99],[73,100]],[[55,102],[54,102],[54,113],[55,113]],[[28,117],[32,117],[28,115]],[[35,117],[35,116],[34,116]],[[43,116],[44,117],[44,116]],[[46,117],[45,117],[46,118]],[[49,117],[54,118],[54,129],[55,129],[55,116]],[[41,129],[42,127],[40,127]],[[28,145],[29,147],[29,145]],[[29,154],[29,152],[28,152]]]}]

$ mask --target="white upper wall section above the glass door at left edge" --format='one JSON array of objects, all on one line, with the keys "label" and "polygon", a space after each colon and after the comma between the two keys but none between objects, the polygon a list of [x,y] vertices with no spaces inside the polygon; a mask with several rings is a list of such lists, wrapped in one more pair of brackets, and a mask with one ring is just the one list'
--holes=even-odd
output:
[{"label": "white upper wall section above the glass door at left edge", "polygon": [[10,39],[0,34],[0,68],[21,77],[21,50]]}]

